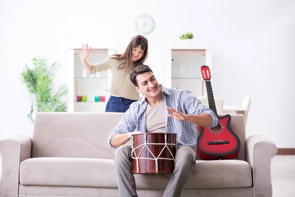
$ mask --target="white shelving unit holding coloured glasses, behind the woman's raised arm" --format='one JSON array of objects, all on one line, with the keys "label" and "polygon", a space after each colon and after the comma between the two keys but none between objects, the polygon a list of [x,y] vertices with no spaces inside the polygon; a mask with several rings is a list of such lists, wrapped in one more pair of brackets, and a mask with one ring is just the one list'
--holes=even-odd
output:
[{"label": "white shelving unit holding coloured glasses, behind the woman's raised arm", "polygon": [[[83,65],[80,60],[81,48],[72,48],[68,52],[69,62],[69,92],[68,111],[69,112],[104,112],[109,94],[111,75],[110,70],[99,72],[98,74],[83,76]],[[91,48],[87,61],[98,63],[114,54],[114,49]],[[77,101],[77,96],[87,96],[87,101]],[[95,102],[95,96],[105,96],[104,102]]]}]

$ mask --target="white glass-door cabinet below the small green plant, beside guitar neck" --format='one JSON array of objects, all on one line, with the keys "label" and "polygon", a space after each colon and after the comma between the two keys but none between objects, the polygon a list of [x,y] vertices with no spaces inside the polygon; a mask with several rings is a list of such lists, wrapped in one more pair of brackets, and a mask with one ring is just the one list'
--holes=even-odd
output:
[{"label": "white glass-door cabinet below the small green plant, beside guitar neck", "polygon": [[211,49],[172,48],[165,51],[165,84],[191,91],[194,97],[207,95],[200,75],[201,66],[211,69]]}]

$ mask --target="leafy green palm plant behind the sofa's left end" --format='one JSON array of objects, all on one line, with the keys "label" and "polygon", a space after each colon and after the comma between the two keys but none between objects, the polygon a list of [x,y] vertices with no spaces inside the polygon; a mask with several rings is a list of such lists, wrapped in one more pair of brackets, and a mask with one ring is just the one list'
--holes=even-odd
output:
[{"label": "leafy green palm plant behind the sofa's left end", "polygon": [[[67,95],[68,88],[60,85],[58,92],[52,95],[52,82],[56,76],[59,66],[53,63],[48,66],[47,60],[43,57],[32,59],[33,68],[25,66],[21,72],[20,79],[26,85],[30,94],[35,95],[35,109],[37,112],[67,111],[67,103],[62,102],[61,98]],[[32,101],[30,112],[27,114],[31,123],[34,110],[34,101]]]}]

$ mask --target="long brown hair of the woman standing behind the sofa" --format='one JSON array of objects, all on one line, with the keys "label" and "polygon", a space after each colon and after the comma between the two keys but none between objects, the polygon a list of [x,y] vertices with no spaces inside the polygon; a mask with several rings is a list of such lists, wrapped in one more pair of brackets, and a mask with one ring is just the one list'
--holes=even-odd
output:
[{"label": "long brown hair of the woman standing behind the sofa", "polygon": [[[141,49],[144,51],[144,53],[143,53],[143,56],[141,59],[133,62],[132,61],[132,50],[133,50],[133,48],[136,48],[138,46],[141,47]],[[126,70],[131,70],[131,69],[135,68],[136,66],[144,64],[147,57],[148,57],[148,39],[142,35],[136,35],[130,40],[124,53],[115,54],[115,55],[111,56],[110,58],[116,59],[116,60],[123,60],[122,64],[118,67],[118,69],[126,67]]]}]

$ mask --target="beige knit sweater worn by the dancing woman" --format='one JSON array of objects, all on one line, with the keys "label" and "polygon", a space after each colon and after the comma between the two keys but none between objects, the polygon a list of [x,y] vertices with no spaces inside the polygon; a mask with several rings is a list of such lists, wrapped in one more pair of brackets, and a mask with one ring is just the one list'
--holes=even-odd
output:
[{"label": "beige knit sweater worn by the dancing woman", "polygon": [[122,60],[107,58],[100,63],[91,64],[92,69],[90,74],[111,69],[111,85],[108,92],[112,96],[123,97],[125,99],[138,100],[139,93],[135,90],[134,84],[131,83],[129,74],[131,70],[125,67],[118,69],[122,64]]}]

